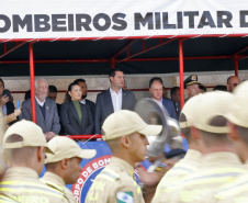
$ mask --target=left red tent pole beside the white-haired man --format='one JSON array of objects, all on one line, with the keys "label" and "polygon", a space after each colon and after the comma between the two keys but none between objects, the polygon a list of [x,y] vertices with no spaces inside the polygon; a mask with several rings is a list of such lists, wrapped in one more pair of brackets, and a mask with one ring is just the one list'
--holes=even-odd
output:
[{"label": "left red tent pole beside the white-haired man", "polygon": [[31,111],[32,121],[36,123],[36,112],[35,112],[35,88],[34,88],[34,49],[33,43],[29,44],[30,49],[30,87],[31,87]]}]

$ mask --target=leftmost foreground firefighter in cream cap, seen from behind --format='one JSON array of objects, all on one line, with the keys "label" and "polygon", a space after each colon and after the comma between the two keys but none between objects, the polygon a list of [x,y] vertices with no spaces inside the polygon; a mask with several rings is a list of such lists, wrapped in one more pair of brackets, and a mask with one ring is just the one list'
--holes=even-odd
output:
[{"label": "leftmost foreground firefighter in cream cap, seen from behind", "polygon": [[38,180],[45,150],[52,153],[40,126],[24,120],[16,122],[5,132],[2,148],[8,169],[0,182],[1,202],[67,202],[64,193]]}]

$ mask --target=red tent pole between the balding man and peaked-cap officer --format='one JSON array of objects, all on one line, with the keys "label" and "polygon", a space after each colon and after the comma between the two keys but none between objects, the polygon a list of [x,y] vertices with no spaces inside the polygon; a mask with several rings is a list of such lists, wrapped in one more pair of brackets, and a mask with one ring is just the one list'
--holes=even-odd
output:
[{"label": "red tent pole between the balding man and peaked-cap officer", "polygon": [[179,74],[180,74],[180,99],[181,99],[181,109],[184,105],[184,82],[183,82],[183,49],[182,49],[182,40],[178,41],[179,46]]}]

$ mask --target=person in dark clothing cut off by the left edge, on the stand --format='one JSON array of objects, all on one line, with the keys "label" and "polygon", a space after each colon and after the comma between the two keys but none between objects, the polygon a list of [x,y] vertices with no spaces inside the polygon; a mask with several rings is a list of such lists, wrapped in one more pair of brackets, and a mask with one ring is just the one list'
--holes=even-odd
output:
[{"label": "person in dark clothing cut off by the left edge, on the stand", "polygon": [[[0,111],[3,112],[3,115],[10,115],[14,113],[14,104],[10,101],[10,94],[4,93],[4,82],[0,78]],[[10,123],[13,124],[14,122]]]}]

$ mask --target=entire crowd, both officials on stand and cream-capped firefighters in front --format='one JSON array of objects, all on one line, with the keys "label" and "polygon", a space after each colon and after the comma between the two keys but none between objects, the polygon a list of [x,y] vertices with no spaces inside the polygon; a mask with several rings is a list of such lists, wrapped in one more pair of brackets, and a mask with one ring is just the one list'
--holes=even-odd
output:
[{"label": "entire crowd, both officials on stand and cream-capped firefighters in front", "polygon": [[[94,104],[86,99],[86,80],[77,79],[69,84],[65,103],[56,104],[56,87],[35,80],[35,124],[31,99],[22,103],[22,110],[14,110],[0,80],[0,134],[7,166],[0,168],[0,172],[5,170],[0,176],[0,202],[76,202],[66,184],[76,183],[81,160],[93,158],[97,151],[57,135],[83,134],[102,134],[112,153],[111,162],[83,194],[87,203],[248,201],[248,81],[232,76],[226,89],[218,86],[214,89],[218,91],[206,92],[198,76],[190,76],[184,80],[189,99],[181,110],[179,87],[171,88],[168,99],[161,78],[151,78],[150,98],[179,122],[189,149],[150,156],[147,170],[140,165],[147,156],[147,136],[159,135],[164,126],[147,124],[133,111],[136,99],[123,89],[122,70],[113,69],[110,82]],[[46,173],[38,179],[44,165]]]}]

